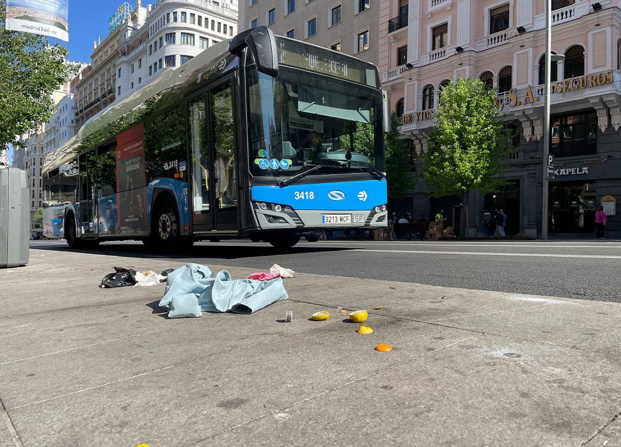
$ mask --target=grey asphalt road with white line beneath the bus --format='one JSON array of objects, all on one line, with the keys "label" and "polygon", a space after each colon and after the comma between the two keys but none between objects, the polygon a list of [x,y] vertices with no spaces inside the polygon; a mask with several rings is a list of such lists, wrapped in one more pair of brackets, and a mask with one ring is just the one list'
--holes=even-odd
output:
[{"label": "grey asphalt road with white line beneath the bus", "polygon": [[[38,241],[41,250],[70,250]],[[432,286],[621,302],[621,242],[300,242],[290,253],[266,243],[201,242],[184,255],[150,253],[138,242],[106,242],[107,255],[171,258],[268,271],[274,263],[298,272],[416,282]],[[35,252],[31,252],[35,253]],[[31,254],[32,255],[32,254]],[[119,266],[122,260],[119,260]],[[112,266],[111,266],[112,267]]]}]

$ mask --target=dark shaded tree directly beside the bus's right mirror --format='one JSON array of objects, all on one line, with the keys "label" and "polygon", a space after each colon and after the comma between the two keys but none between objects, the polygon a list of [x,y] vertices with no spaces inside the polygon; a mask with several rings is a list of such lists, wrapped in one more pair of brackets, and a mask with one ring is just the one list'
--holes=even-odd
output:
[{"label": "dark shaded tree directly beside the bus's right mirror", "polygon": [[401,126],[397,115],[391,116],[391,130],[384,137],[386,150],[386,184],[389,199],[402,199],[414,189],[414,176],[409,165],[406,143],[399,138]]}]

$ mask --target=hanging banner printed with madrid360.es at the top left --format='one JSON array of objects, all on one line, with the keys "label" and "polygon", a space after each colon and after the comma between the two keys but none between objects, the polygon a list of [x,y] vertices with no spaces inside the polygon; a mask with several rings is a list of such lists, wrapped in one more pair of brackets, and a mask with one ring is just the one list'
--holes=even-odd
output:
[{"label": "hanging banner printed with madrid360.es at the top left", "polygon": [[68,0],[6,0],[6,29],[69,42]]}]

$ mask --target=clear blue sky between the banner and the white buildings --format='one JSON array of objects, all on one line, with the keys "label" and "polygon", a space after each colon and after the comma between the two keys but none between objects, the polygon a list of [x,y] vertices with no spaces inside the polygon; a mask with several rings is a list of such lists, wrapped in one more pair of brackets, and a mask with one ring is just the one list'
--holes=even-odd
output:
[{"label": "clear blue sky between the banner and the white buildings", "polygon": [[[93,41],[108,35],[108,19],[114,14],[122,0],[68,0],[69,1],[69,42],[53,37],[45,37],[51,45],[60,43],[69,55],[68,60],[75,62],[91,62]],[[152,0],[151,2],[155,2]],[[129,1],[136,7],[135,0]],[[143,2],[143,6],[149,1]],[[9,147],[9,160],[12,160],[12,148]]]}]

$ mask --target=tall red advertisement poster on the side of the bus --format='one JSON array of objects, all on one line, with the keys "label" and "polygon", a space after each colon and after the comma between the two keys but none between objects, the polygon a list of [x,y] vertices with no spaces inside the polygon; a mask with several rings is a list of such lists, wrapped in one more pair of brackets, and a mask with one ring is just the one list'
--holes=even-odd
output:
[{"label": "tall red advertisement poster on the side of the bus", "polygon": [[117,137],[117,215],[121,232],[147,224],[144,135],[144,126],[139,124]]}]

